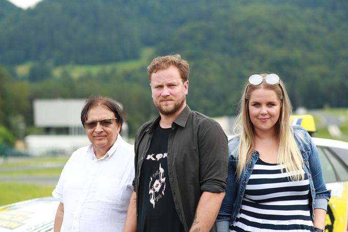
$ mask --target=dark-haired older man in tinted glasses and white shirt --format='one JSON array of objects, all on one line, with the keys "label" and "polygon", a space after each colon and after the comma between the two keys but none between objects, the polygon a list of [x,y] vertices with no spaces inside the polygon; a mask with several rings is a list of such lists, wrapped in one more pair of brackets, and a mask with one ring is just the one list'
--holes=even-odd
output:
[{"label": "dark-haired older man in tinted glasses and white shirt", "polygon": [[122,231],[132,181],[134,148],[118,134],[122,114],[110,98],[91,97],[81,112],[91,144],[75,151],[52,192],[54,231]]}]

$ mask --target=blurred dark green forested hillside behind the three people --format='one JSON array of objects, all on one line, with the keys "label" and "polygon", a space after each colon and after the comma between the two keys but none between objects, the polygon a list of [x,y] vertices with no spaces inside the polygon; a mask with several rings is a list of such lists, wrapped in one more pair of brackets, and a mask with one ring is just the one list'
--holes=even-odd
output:
[{"label": "blurred dark green forested hillside behind the three people", "polygon": [[[33,133],[32,100],[113,97],[130,134],[156,116],[146,66],[180,53],[191,66],[188,104],[233,115],[247,77],[277,73],[294,107],[346,107],[345,0],[44,0],[22,10],[0,0],[0,125]],[[151,57],[131,69],[59,76],[57,67]],[[29,64],[26,75],[18,67]]]}]

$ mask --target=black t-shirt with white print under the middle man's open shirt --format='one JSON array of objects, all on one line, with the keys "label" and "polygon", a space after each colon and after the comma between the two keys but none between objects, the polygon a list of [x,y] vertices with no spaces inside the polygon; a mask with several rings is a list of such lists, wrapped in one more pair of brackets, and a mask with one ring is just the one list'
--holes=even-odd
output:
[{"label": "black t-shirt with white print under the middle man's open shirt", "polygon": [[139,232],[184,231],[175,209],[167,166],[168,137],[171,128],[158,124],[141,167],[138,188]]}]

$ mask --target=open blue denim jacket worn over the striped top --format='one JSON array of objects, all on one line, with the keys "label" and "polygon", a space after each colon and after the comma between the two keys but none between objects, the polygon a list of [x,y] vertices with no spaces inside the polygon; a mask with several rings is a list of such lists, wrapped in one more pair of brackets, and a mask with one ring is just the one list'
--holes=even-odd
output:
[{"label": "open blue denim jacket worn over the striped top", "polygon": [[[301,126],[293,126],[293,134],[298,148],[303,157],[303,170],[308,176],[311,190],[311,216],[314,221],[313,210],[315,208],[327,209],[331,191],[325,186],[319,155],[310,135]],[[244,168],[241,178],[236,180],[237,150],[240,137],[228,141],[229,161],[226,195],[222,202],[217,221],[229,220],[232,224],[240,211],[246,185],[258,159],[259,153],[254,150],[248,165]],[[219,228],[218,223],[218,228]]]}]

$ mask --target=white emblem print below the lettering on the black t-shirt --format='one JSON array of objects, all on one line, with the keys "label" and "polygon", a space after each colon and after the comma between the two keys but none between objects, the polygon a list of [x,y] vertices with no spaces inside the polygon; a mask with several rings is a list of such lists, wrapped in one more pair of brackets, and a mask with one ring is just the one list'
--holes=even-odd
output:
[{"label": "white emblem print below the lettering on the black t-shirt", "polygon": [[154,205],[155,208],[155,203],[159,201],[162,198],[162,196],[164,196],[165,191],[165,177],[164,170],[161,167],[161,163],[159,170],[150,177],[150,183],[148,185],[148,188],[150,202]]}]

